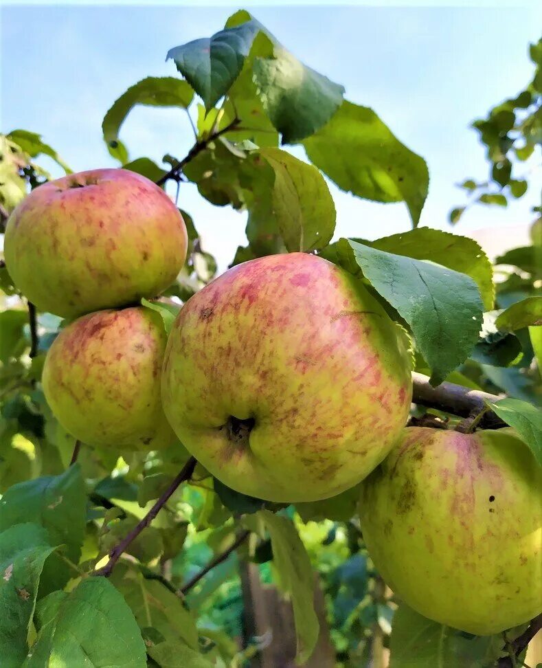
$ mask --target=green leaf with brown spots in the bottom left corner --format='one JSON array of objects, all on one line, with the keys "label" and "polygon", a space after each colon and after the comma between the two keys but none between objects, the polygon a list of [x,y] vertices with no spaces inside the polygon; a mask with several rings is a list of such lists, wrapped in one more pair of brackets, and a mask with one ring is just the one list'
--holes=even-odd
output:
[{"label": "green leaf with brown spots in the bottom left corner", "polygon": [[14,524],[0,533],[0,647],[3,668],[19,668],[28,652],[45,559],[54,548],[36,524]]}]

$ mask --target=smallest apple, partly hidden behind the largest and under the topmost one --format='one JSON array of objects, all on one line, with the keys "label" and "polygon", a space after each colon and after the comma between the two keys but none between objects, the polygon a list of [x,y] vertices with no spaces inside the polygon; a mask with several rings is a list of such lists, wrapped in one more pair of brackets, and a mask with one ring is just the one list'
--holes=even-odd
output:
[{"label": "smallest apple, partly hidden behind the largest and under the topmost one", "polygon": [[154,450],[177,441],[163,414],[161,317],[144,307],[83,315],[63,329],[43,366],[60,424],[95,447]]}]

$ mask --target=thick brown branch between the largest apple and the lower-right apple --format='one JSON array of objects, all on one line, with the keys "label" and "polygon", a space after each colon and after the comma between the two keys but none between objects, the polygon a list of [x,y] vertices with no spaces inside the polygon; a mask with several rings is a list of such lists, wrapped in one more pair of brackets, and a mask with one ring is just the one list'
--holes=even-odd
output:
[{"label": "thick brown branch between the largest apple and the lower-right apple", "polygon": [[486,401],[499,401],[501,397],[481,390],[470,390],[454,383],[441,383],[436,388],[429,384],[429,377],[422,373],[414,372],[412,374],[414,383],[414,392],[412,401],[427,408],[437,408],[447,413],[460,415],[468,418],[474,414],[479,414],[484,410],[479,425],[492,429],[506,427],[506,422],[501,420],[493,410],[486,409]]}]

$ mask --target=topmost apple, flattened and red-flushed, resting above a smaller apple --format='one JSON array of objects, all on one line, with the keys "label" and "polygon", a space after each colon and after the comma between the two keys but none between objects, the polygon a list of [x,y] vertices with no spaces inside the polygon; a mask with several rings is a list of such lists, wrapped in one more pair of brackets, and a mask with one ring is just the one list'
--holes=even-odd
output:
[{"label": "topmost apple, flattened and red-flushed, resting above a smaller apple", "polygon": [[186,248],[174,203],[124,169],[38,186],[12,212],[4,241],[16,287],[39,311],[63,318],[159,295],[179,274]]}]

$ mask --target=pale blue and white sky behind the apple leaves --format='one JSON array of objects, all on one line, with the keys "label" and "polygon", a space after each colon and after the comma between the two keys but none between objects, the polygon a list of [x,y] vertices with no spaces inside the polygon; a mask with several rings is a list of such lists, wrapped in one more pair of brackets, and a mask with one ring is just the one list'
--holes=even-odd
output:
[{"label": "pale blue and white sky behind the apple leaves", "polygon": [[[532,77],[528,43],[537,41],[542,25],[535,3],[220,4],[3,5],[0,130],[41,133],[74,170],[117,166],[101,135],[113,101],[146,76],[176,76],[172,61],[164,60],[168,49],[210,36],[242,6],[306,65],[343,84],[348,99],[372,107],[426,159],[431,181],[420,225],[451,230],[449,211],[465,201],[455,183],[487,177],[484,149],[469,124]],[[148,107],[131,112],[120,137],[131,159],[148,155],[159,164],[165,153],[183,157],[194,140],[183,111]],[[58,168],[52,172],[60,176]],[[371,203],[330,188],[337,238],[378,238],[409,229],[403,203]],[[473,207],[455,232],[497,246],[521,245],[533,218],[530,208],[538,203],[533,184],[506,209]],[[225,269],[236,247],[245,244],[246,214],[210,205],[190,184],[181,185],[179,206],[192,214],[203,246]]]}]

